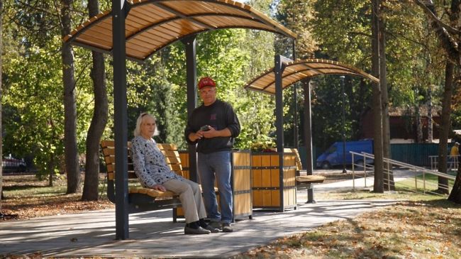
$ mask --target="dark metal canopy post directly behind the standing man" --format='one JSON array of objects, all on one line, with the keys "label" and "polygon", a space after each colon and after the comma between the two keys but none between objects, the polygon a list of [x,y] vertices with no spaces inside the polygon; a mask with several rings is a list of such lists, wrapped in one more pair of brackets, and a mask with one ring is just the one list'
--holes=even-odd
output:
[{"label": "dark metal canopy post directly behind the standing man", "polygon": [[[196,65],[196,36],[191,35],[181,40],[186,47],[186,77],[187,77],[187,117],[191,116],[197,103],[197,65]],[[189,145],[189,176],[190,180],[197,182],[197,153],[196,144]]]}]

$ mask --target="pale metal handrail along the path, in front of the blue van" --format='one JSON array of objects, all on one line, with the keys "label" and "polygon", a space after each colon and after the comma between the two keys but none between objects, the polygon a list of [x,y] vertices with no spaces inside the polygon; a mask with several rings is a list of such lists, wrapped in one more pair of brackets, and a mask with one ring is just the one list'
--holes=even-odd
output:
[{"label": "pale metal handrail along the path, in front of the blue van", "polygon": [[[364,180],[365,180],[365,187],[367,187],[367,170],[369,169],[373,169],[374,166],[372,165],[367,165],[366,161],[367,161],[367,158],[370,158],[370,159],[374,159],[374,155],[373,154],[370,154],[370,153],[365,153],[365,152],[362,152],[362,153],[357,153],[357,152],[353,152],[353,151],[350,151],[350,153],[352,154],[352,180],[353,180],[353,183],[352,183],[352,188],[355,189],[355,159],[354,159],[354,155],[359,155],[360,157],[363,158],[363,169],[364,169]],[[444,177],[448,180],[455,180],[456,177],[455,176],[452,176],[452,175],[448,175],[448,174],[445,174],[443,172],[438,172],[436,170],[430,170],[430,169],[427,169],[425,167],[419,167],[419,166],[416,166],[416,165],[411,165],[411,164],[408,164],[406,162],[400,162],[400,161],[397,161],[397,160],[391,160],[389,158],[383,158],[383,162],[386,162],[387,163],[387,168],[389,169],[386,169],[384,168],[384,173],[387,175],[387,179],[384,179],[385,181],[387,181],[388,183],[391,183],[391,180],[390,180],[390,171],[391,171],[391,168],[394,167],[394,166],[398,166],[398,167],[404,167],[404,168],[408,168],[409,170],[412,170],[414,172],[414,177],[415,177],[415,189],[417,190],[418,189],[418,179],[417,179],[417,176],[418,176],[418,173],[417,172],[422,172],[423,174],[423,193],[426,193],[426,174],[429,174],[429,175],[435,175],[435,176],[438,176],[438,177]],[[361,175],[361,173],[360,173]],[[388,187],[389,187],[390,184],[388,184]],[[446,189],[449,189],[449,186],[442,186],[443,188],[446,188]]]}]

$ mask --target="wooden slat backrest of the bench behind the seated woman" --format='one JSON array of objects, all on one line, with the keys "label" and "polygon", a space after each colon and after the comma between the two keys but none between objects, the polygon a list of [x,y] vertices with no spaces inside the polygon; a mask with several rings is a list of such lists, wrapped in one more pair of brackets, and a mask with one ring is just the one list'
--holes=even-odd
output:
[{"label": "wooden slat backrest of the bench behind the seated woman", "polygon": [[[157,143],[157,147],[162,151],[170,169],[178,175],[182,175],[181,158],[174,144]],[[106,162],[107,177],[109,180],[115,179],[115,142],[113,140],[101,140],[104,162]],[[128,178],[137,178],[133,169],[133,161],[130,157],[131,143],[128,142]]]}]

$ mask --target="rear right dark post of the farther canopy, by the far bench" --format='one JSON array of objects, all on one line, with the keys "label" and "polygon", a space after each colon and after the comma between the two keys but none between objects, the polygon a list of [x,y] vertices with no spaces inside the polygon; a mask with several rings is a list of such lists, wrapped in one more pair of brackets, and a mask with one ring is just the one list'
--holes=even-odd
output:
[{"label": "rear right dark post of the farther canopy, by the far bench", "polygon": [[[304,139],[306,140],[306,175],[313,175],[312,123],[311,123],[311,79],[304,79]],[[307,189],[307,202],[316,203],[313,189]]]}]

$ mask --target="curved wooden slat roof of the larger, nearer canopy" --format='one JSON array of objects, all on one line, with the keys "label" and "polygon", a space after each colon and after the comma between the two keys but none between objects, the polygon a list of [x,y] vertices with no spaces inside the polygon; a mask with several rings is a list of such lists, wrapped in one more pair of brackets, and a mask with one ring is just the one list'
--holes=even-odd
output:
[{"label": "curved wooden slat roof of the larger, nearer canopy", "polygon": [[[230,0],[133,0],[126,16],[126,55],[145,60],[157,50],[189,35],[222,28],[250,28],[296,34],[251,6]],[[111,53],[111,11],[99,13],[78,26],[65,42]]]}]

